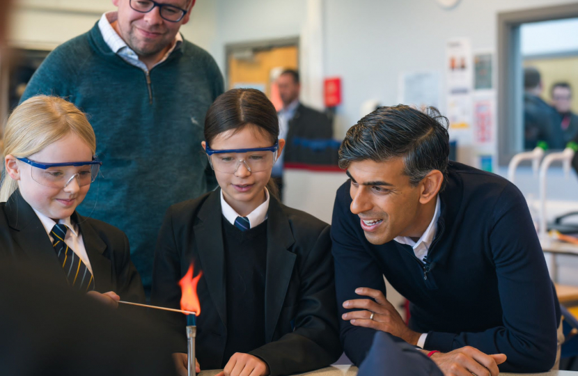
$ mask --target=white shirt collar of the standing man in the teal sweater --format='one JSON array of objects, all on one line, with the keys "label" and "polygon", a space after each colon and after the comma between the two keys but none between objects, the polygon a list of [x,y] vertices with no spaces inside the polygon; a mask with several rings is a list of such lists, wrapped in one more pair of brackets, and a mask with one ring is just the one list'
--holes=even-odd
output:
[{"label": "white shirt collar of the standing man in the teal sweater", "polygon": [[[124,61],[130,65],[134,65],[137,68],[141,68],[145,72],[148,72],[146,64],[139,59],[139,55],[137,55],[136,52],[128,47],[127,43],[123,40],[123,38],[120,38],[114,27],[112,27],[111,24],[115,22],[117,18],[118,12],[116,11],[104,13],[102,17],[100,17],[100,20],[98,21],[98,29],[100,29],[100,33],[102,33],[104,42],[107,43],[112,52],[120,56],[120,58],[123,58]],[[182,36],[180,33],[177,33],[172,47],[169,49],[169,51],[166,52],[166,54],[164,54],[162,59],[155,64],[155,66],[165,61],[166,58],[168,58],[175,49],[179,48],[181,44]]]}]

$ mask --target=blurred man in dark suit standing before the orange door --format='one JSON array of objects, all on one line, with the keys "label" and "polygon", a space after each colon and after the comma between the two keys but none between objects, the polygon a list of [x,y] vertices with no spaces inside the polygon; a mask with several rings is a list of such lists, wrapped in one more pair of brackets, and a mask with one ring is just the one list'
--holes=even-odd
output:
[{"label": "blurred man in dark suit standing before the orange door", "polygon": [[299,102],[299,72],[288,69],[279,75],[277,79],[279,95],[283,102],[283,109],[279,111],[279,138],[286,139],[285,150],[279,157],[279,161],[273,167],[272,177],[279,187],[279,194],[283,194],[283,163],[307,161],[299,155],[297,143],[299,140],[320,140],[333,138],[333,125],[331,120],[320,111],[315,111]]}]

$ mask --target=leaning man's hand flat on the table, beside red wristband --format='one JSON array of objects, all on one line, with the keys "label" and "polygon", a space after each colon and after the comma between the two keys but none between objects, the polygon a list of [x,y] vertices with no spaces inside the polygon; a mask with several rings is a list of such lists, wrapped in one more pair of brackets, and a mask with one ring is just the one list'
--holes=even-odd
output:
[{"label": "leaning man's hand flat on the table, beside red wristband", "polygon": [[[423,350],[427,353],[427,351]],[[444,376],[497,376],[498,364],[506,361],[506,355],[487,355],[474,347],[461,347],[451,352],[436,352],[431,356]]]}]

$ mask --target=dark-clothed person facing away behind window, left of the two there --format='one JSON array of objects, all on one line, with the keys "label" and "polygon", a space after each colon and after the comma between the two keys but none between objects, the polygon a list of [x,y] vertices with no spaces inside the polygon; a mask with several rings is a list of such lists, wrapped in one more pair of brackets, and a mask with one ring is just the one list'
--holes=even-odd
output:
[{"label": "dark-clothed person facing away behind window, left of the two there", "polygon": [[563,149],[563,132],[557,124],[556,111],[540,95],[540,72],[533,67],[524,68],[524,149],[536,148],[538,141],[545,141],[549,149]]}]

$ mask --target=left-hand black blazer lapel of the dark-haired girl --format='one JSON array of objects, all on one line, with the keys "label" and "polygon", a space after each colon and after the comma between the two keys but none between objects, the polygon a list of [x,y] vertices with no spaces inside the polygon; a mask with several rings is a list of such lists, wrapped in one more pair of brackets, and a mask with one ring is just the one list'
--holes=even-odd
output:
[{"label": "left-hand black blazer lapel of the dark-haired girl", "polygon": [[196,248],[203,266],[203,278],[207,281],[214,306],[226,327],[225,249],[221,215],[221,190],[217,189],[208,196],[198,211],[197,217],[201,221],[194,226],[197,247],[195,244],[189,244],[189,249]]}]

